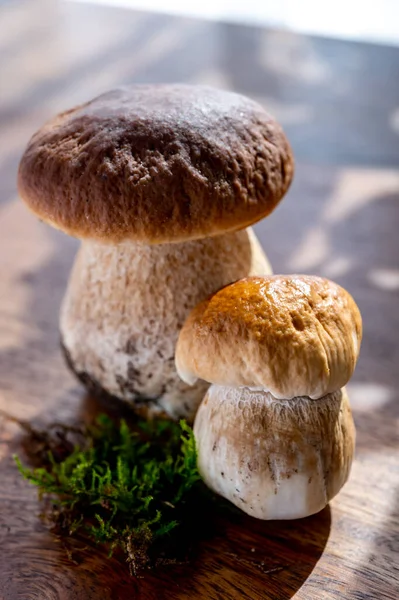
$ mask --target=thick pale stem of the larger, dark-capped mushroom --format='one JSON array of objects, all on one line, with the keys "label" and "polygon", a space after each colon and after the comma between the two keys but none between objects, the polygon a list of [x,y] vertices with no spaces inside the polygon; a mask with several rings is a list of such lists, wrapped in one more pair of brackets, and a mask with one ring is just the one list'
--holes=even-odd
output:
[{"label": "thick pale stem of the larger, dark-capped mushroom", "polygon": [[147,415],[193,418],[209,384],[179,379],[180,328],[219,288],[270,272],[251,229],[151,246],[84,241],[61,309],[68,362],[86,385]]}]

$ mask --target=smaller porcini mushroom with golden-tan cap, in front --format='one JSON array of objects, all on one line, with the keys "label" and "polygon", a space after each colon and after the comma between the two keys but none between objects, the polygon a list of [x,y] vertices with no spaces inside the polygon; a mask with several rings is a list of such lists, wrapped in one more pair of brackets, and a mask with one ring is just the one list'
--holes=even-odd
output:
[{"label": "smaller porcini mushroom with golden-tan cap, in front", "polygon": [[250,277],[200,303],[176,367],[188,383],[212,383],[194,423],[205,483],[260,519],[324,508],[352,463],[343,386],[361,335],[352,297],[319,277]]}]

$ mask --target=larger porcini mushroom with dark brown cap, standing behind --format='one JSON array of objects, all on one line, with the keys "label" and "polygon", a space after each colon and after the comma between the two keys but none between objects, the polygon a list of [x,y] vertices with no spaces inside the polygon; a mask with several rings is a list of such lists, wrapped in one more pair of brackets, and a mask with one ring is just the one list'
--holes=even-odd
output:
[{"label": "larger porcini mushroom with dark brown cap, standing behind", "polygon": [[19,191],[82,240],[61,310],[78,377],[147,413],[193,416],[207,386],[176,374],[179,329],[208,294],[270,272],[245,228],[274,209],[292,172],[262,107],[210,88],[123,88],[39,130]]}]

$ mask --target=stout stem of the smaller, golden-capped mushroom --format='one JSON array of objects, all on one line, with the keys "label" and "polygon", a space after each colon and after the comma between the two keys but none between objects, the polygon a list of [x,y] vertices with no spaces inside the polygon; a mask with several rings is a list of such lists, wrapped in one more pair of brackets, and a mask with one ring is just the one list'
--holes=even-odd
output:
[{"label": "stout stem of the smaller, golden-capped mushroom", "polygon": [[348,479],[355,427],[345,389],[319,400],[212,385],[194,423],[213,491],[259,519],[323,509]]}]

